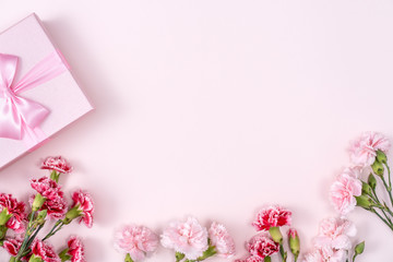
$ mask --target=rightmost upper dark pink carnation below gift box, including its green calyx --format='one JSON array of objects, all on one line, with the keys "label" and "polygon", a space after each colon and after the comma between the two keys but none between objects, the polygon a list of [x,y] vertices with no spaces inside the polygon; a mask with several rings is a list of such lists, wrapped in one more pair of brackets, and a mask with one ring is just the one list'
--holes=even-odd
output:
[{"label": "rightmost upper dark pink carnation below gift box, including its green calyx", "polygon": [[84,222],[87,227],[92,227],[94,202],[90,193],[82,190],[75,191],[72,194],[72,207],[66,214],[66,224],[71,223],[76,217],[81,217],[80,223]]}]

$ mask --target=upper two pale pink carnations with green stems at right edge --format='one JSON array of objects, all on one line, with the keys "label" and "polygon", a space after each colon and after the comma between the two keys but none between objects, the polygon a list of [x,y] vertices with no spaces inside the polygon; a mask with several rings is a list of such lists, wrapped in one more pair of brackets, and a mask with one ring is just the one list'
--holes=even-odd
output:
[{"label": "upper two pale pink carnations with green stems at right edge", "polygon": [[[389,213],[392,216],[393,213],[388,205],[381,204],[376,190],[377,176],[383,182],[393,205],[392,182],[386,157],[390,146],[389,140],[376,132],[364,133],[355,141],[350,148],[350,166],[337,177],[330,192],[331,202],[342,216],[352,212],[356,205],[361,206],[377,215],[385,216],[388,226],[393,230],[391,217],[386,215]],[[388,170],[389,184],[384,177],[384,167]],[[369,174],[367,182],[360,179],[362,172]],[[381,213],[378,213],[376,209],[379,209]]]}]

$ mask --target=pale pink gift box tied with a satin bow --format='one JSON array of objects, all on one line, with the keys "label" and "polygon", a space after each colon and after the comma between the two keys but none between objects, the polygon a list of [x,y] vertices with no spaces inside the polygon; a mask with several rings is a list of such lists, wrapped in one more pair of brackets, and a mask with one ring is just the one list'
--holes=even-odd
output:
[{"label": "pale pink gift box tied with a satin bow", "polygon": [[[38,147],[56,132],[91,111],[93,107],[36,14],[27,16],[0,34],[0,53],[3,56],[0,57],[2,168],[26,152]],[[4,61],[14,61],[14,57],[17,57],[17,66],[11,87],[7,88],[4,79],[10,75],[10,67]],[[46,75],[48,72],[49,76]],[[17,91],[19,86],[22,86],[21,91]],[[25,107],[26,102],[28,106]],[[20,105],[15,106],[13,103]],[[28,110],[25,110],[26,108]],[[15,111],[11,114],[11,109]],[[20,138],[15,138],[17,135]]]}]

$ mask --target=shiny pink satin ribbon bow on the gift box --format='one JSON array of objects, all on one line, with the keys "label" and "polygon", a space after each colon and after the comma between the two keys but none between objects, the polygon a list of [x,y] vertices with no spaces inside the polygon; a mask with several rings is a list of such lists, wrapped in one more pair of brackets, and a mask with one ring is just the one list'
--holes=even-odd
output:
[{"label": "shiny pink satin ribbon bow on the gift box", "polygon": [[17,57],[0,53],[0,138],[23,140],[34,145],[46,139],[39,124],[49,110],[20,93],[34,88],[67,71],[59,53],[53,52],[38,62],[17,83],[13,83]]}]

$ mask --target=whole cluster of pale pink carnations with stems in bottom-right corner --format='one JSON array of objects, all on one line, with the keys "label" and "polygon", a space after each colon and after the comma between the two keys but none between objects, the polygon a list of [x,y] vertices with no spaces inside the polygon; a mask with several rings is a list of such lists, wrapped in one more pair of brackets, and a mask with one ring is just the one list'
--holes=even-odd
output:
[{"label": "whole cluster of pale pink carnations with stems in bottom-right corner", "polygon": [[[386,153],[391,144],[380,133],[366,132],[356,140],[350,147],[350,165],[340,174],[330,189],[330,200],[337,211],[340,218],[326,218],[321,222],[319,235],[313,239],[314,249],[306,254],[306,262],[344,262],[355,261],[356,257],[364,252],[365,242],[355,246],[350,237],[356,235],[356,228],[346,216],[360,206],[372,212],[393,230],[393,212],[377,193],[377,177],[383,183],[391,204],[392,186],[388,165]],[[388,180],[384,177],[384,168],[388,170]],[[367,181],[361,180],[361,174],[367,172]]]}]

